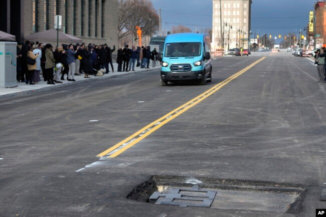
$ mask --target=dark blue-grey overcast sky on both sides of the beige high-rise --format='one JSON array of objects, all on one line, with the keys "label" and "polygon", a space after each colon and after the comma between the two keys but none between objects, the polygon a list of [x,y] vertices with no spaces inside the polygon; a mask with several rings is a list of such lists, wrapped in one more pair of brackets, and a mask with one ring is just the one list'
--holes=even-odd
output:
[{"label": "dark blue-grey overcast sky on both sides of the beige high-rise", "polygon": [[[212,28],[212,0],[151,0],[154,8],[161,9],[162,31],[184,25],[193,30]],[[309,21],[316,0],[253,0],[251,31],[271,34],[273,37],[288,33],[299,34]],[[304,33],[305,34],[305,33]],[[277,40],[279,41],[279,40]]]}]

